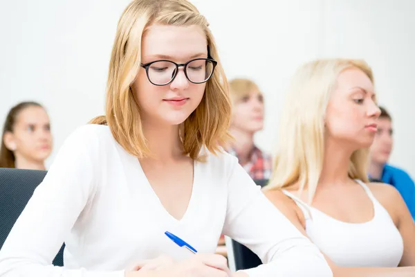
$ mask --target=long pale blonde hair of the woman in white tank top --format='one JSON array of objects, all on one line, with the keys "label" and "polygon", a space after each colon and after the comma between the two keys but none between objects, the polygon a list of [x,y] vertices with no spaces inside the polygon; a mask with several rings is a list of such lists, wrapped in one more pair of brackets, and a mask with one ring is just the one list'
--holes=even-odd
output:
[{"label": "long pale blonde hair of the woman in white tank top", "polygon": [[[363,60],[315,60],[300,66],[289,89],[279,125],[273,175],[266,189],[299,185],[308,189],[313,201],[324,157],[324,116],[338,75],[349,68],[363,71],[374,83],[373,73]],[[369,151],[353,152],[349,176],[367,182]]]}]

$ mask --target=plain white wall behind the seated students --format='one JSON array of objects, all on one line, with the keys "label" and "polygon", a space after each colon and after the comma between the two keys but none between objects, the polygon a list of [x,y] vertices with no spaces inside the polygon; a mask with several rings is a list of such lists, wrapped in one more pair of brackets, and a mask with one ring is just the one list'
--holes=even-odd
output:
[{"label": "plain white wall behind the seated students", "polygon": [[[102,114],[109,53],[129,0],[7,1],[0,9],[0,118],[20,100],[48,108],[55,151],[75,127]],[[316,57],[362,57],[373,66],[380,103],[394,117],[391,161],[415,177],[415,1],[193,0],[208,17],[228,78],[257,81],[272,150],[288,78]]]}]

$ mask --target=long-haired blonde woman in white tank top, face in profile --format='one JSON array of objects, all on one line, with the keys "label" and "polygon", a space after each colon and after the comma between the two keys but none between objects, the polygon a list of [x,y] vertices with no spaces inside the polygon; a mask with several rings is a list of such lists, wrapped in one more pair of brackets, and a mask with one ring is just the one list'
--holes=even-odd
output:
[{"label": "long-haired blonde woman in white tank top, face in profile", "polygon": [[369,66],[333,59],[299,68],[281,116],[266,196],[335,276],[415,274],[415,226],[402,197],[367,180],[379,114]]}]

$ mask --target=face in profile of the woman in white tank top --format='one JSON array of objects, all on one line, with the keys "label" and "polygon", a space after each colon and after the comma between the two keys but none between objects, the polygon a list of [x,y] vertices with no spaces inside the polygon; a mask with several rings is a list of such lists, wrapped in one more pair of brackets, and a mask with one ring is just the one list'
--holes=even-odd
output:
[{"label": "face in profile of the woman in white tank top", "polygon": [[374,85],[359,69],[346,69],[338,76],[326,109],[326,130],[352,148],[369,148],[374,141],[380,109]]}]

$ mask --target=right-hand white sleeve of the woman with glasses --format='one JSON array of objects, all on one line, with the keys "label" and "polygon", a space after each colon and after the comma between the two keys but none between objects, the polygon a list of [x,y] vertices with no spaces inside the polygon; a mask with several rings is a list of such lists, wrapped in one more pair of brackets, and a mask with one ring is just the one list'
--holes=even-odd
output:
[{"label": "right-hand white sleeve of the woman with glasses", "polygon": [[228,181],[223,233],[261,258],[264,265],[244,271],[250,277],[333,276],[320,250],[269,202],[237,163]]}]

